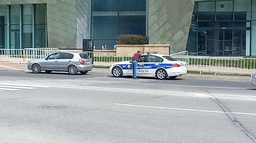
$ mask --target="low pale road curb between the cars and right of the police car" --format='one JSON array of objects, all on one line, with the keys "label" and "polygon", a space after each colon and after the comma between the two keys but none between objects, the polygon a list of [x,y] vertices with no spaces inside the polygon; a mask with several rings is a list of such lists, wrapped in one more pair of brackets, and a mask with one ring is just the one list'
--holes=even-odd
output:
[{"label": "low pale road curb between the cars and right of the police car", "polygon": [[[98,74],[109,74],[108,70],[92,70],[89,73],[98,73]],[[252,79],[250,77],[237,77],[237,76],[205,76],[205,75],[197,75],[197,74],[186,74],[180,76],[180,78],[185,79],[205,79],[205,80],[224,80],[224,81],[234,81],[234,82],[251,82]]]}]

